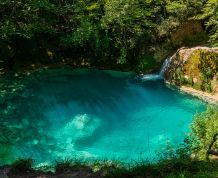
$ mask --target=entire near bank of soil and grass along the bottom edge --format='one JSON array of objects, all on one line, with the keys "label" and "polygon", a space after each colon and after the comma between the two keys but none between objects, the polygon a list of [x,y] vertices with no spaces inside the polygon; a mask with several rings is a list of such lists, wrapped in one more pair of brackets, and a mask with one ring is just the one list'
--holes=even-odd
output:
[{"label": "entire near bank of soil and grass along the bottom edge", "polygon": [[141,162],[133,167],[118,166],[118,163],[102,164],[99,165],[101,167],[99,170],[93,169],[92,166],[71,166],[68,163],[57,165],[55,172],[34,170],[27,166],[21,164],[0,167],[0,178],[215,178],[218,175],[217,161],[192,160],[188,155],[162,160],[155,164]]}]

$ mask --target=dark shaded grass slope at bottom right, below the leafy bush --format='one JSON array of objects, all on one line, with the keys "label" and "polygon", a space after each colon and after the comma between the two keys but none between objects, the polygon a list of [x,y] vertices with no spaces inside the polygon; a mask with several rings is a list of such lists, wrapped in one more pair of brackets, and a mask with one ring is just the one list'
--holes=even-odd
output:
[{"label": "dark shaded grass slope at bottom right, below the leafy bush", "polygon": [[116,169],[106,178],[218,178],[218,162],[169,160]]}]

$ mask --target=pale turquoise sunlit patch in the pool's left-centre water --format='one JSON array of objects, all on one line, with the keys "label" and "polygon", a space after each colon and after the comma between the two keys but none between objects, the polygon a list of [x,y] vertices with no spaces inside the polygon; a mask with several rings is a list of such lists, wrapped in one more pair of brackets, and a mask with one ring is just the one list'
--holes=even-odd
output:
[{"label": "pale turquoise sunlit patch in the pool's left-centre water", "polygon": [[88,151],[77,150],[75,143],[80,139],[91,137],[100,126],[100,119],[88,114],[72,117],[63,128],[53,133],[58,147],[55,155],[58,158],[75,156],[83,159],[94,158],[95,155]]}]

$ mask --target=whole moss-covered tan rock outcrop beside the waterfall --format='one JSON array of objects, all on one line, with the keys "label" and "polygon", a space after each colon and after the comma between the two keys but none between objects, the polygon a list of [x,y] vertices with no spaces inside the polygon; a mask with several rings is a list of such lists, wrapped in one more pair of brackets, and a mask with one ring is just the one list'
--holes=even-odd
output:
[{"label": "whole moss-covered tan rock outcrop beside the waterfall", "polygon": [[164,77],[175,85],[217,92],[218,48],[181,48],[172,57]]}]

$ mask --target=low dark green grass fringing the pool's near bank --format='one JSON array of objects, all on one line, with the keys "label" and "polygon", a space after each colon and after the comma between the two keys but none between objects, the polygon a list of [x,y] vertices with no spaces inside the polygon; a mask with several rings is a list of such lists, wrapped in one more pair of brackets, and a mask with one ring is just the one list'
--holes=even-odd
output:
[{"label": "low dark green grass fringing the pool's near bank", "polygon": [[[31,175],[32,177],[34,175],[68,177],[69,175],[75,176],[81,174],[83,174],[84,178],[216,178],[218,176],[217,161],[205,162],[193,160],[189,155],[183,154],[181,150],[178,153],[171,154],[170,157],[168,155],[167,159],[165,158],[158,163],[150,164],[148,162],[141,162],[136,163],[135,166],[107,161],[96,162],[91,165],[87,163],[63,161],[57,163],[55,173],[49,171],[47,171],[47,173],[46,171],[44,173],[34,171],[29,167],[28,163],[29,160],[21,160],[12,165],[12,169],[9,173],[10,177],[24,175]],[[46,170],[45,167],[42,169]]]}]

